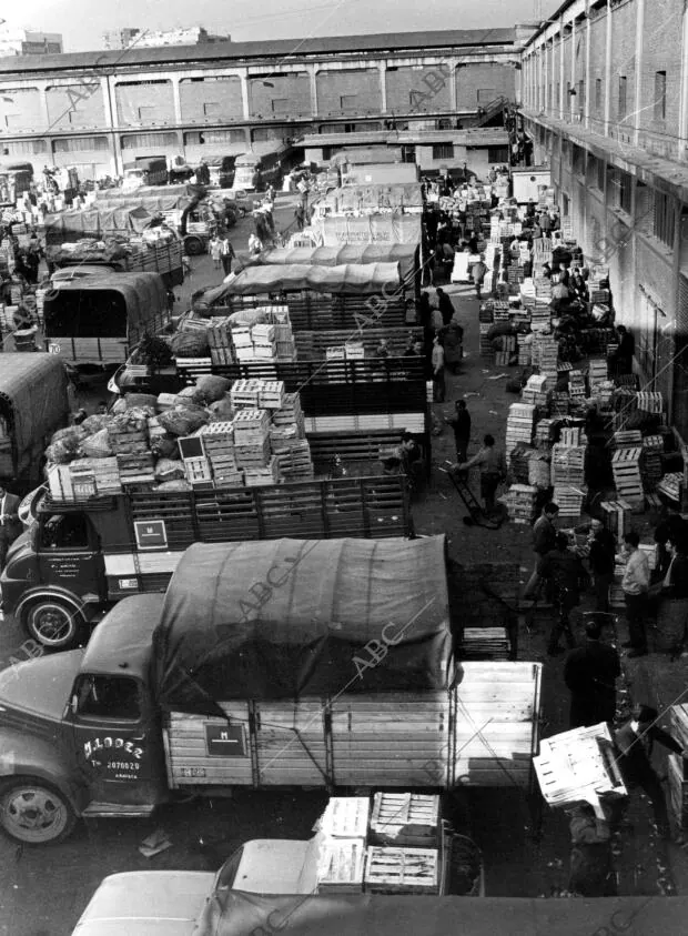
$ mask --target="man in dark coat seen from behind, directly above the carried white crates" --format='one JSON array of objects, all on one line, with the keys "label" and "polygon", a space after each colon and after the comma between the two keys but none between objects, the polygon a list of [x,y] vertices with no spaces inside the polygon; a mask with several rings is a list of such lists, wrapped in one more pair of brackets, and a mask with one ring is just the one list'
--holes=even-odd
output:
[{"label": "man in dark coat seen from behind, directly above the carried white crates", "polygon": [[569,653],[564,667],[564,682],[571,694],[571,728],[614,722],[616,681],[621,675],[619,655],[600,642],[601,624],[588,621],[586,642]]}]

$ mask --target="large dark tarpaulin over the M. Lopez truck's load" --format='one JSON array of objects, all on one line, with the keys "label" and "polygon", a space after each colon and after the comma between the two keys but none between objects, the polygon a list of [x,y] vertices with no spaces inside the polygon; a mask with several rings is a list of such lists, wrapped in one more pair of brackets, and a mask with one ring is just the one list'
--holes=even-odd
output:
[{"label": "large dark tarpaulin over the M. Lopez truck's load", "polygon": [[168,587],[153,683],[161,705],[201,713],[231,698],[436,691],[451,650],[444,536],[196,543]]}]

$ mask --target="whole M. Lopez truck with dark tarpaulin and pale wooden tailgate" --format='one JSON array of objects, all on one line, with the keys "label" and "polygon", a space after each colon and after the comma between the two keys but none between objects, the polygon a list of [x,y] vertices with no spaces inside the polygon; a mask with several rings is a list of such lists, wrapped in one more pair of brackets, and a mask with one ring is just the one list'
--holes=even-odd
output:
[{"label": "whole M. Lopez truck with dark tarpaulin and pale wooden tailgate", "polygon": [[444,536],[194,544],[85,650],[0,674],[2,829],[237,786],[528,789],[542,665],[454,660],[445,563]]}]

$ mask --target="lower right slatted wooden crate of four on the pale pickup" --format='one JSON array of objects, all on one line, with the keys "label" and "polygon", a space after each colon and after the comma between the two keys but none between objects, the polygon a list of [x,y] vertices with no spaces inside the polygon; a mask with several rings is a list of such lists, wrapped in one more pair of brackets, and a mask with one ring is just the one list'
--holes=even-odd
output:
[{"label": "lower right slatted wooden crate of four on the pale pickup", "polygon": [[364,888],[368,894],[437,895],[439,853],[436,848],[372,845],[365,860]]}]

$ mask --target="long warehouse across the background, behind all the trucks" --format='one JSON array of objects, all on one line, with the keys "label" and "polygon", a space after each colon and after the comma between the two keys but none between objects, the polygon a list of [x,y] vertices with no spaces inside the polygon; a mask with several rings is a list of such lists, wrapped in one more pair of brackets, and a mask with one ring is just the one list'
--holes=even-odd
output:
[{"label": "long warehouse across the background, behind all the trucks", "polygon": [[[304,134],[322,135],[326,150],[333,134],[358,145],[368,133],[396,128],[404,145],[429,148],[429,168],[461,167],[467,144],[447,131],[457,122],[474,127],[474,134],[480,125],[500,124],[503,102],[518,95],[520,48],[532,32],[518,27],[134,44],[4,59],[3,155],[38,167],[73,165],[89,178],[120,174],[138,155],[194,163]],[[506,134],[496,137],[494,127],[485,132],[480,159],[505,162]]]}]

